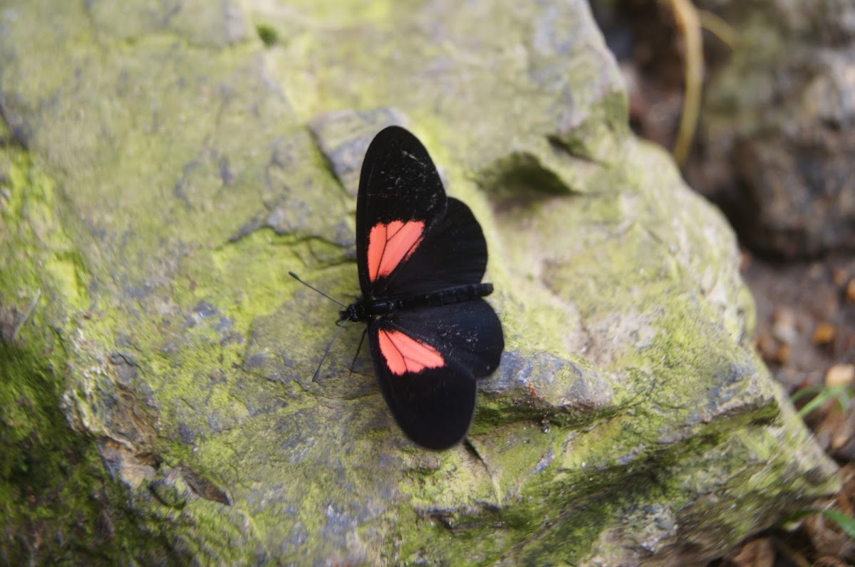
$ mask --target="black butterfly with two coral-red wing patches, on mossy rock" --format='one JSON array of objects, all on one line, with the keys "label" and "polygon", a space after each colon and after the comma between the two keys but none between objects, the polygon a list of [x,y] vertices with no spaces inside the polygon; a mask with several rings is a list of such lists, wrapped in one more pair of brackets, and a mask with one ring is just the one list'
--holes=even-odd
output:
[{"label": "black butterfly with two coral-red wing patches, on mossy rock", "polygon": [[362,296],[339,324],[368,324],[383,397],[422,447],[446,449],[466,436],[476,382],[496,370],[504,350],[502,324],[482,299],[493,290],[481,283],[486,258],[481,225],[445,196],[418,138],[400,126],[380,131],[357,196]]}]

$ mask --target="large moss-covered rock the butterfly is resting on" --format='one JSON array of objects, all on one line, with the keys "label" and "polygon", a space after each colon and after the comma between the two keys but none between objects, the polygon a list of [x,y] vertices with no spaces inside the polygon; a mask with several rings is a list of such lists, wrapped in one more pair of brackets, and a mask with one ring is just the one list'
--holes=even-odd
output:
[{"label": "large moss-covered rock the butterfly is resting on", "polygon": [[[834,491],[587,3],[368,6],[0,12],[0,560],[686,564]],[[357,293],[388,123],[481,220],[504,324],[442,453],[356,325],[312,382],[338,307],[287,276]]]}]

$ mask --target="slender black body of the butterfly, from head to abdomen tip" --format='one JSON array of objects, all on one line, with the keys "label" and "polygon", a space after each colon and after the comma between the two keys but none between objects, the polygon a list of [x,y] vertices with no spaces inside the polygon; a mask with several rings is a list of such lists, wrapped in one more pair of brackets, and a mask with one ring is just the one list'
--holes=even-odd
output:
[{"label": "slender black body of the butterfly, from head to abdomen tip", "polygon": [[359,299],[341,312],[341,319],[368,321],[396,311],[419,307],[438,307],[450,303],[471,301],[492,294],[492,284],[463,284],[437,289],[423,294]]}]

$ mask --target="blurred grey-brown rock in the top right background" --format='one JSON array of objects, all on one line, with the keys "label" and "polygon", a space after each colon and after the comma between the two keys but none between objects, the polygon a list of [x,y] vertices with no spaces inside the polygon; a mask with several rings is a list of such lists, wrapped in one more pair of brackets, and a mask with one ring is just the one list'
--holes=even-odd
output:
[{"label": "blurred grey-brown rock in the top right background", "polygon": [[855,250],[855,4],[708,0],[739,43],[711,73],[694,187],[776,257]]}]

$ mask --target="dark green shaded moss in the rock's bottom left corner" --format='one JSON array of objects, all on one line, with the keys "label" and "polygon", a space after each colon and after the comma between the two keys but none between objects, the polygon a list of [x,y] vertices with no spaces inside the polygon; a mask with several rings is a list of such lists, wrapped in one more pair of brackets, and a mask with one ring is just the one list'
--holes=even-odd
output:
[{"label": "dark green shaded moss in the rock's bottom left corner", "polygon": [[[69,429],[62,376],[52,367],[62,356],[55,352],[49,363],[29,348],[0,342],[0,405],[22,410],[4,412],[0,422],[3,563],[121,562],[158,547],[134,535],[130,517],[113,508],[120,491],[97,447]],[[111,545],[116,535],[120,547]]]}]

